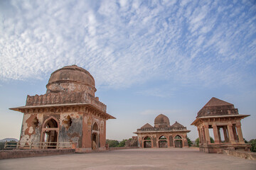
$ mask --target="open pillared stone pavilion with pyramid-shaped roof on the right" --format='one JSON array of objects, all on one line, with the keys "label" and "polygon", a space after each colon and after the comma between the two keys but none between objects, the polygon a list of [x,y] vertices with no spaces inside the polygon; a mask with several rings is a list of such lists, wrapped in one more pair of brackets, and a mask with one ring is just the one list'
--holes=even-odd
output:
[{"label": "open pillared stone pavilion with pyramid-shaped roof on the right", "polygon": [[[249,150],[250,145],[245,144],[242,137],[240,122],[247,116],[240,115],[233,104],[211,98],[191,124],[198,128],[200,150],[208,153],[223,152],[223,149]],[[214,143],[210,143],[209,130],[213,130]]]}]

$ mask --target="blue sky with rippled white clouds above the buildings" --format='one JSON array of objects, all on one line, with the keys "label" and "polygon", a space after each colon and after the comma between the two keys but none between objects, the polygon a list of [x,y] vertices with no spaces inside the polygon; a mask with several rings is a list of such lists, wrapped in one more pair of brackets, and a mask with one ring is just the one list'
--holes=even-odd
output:
[{"label": "blue sky with rippled white clouds above the buildings", "polygon": [[[212,98],[233,103],[256,138],[255,1],[0,1],[0,139],[19,137],[26,95],[77,64],[95,77],[107,138],[161,113],[190,124]],[[7,128],[8,127],[8,128]]]}]

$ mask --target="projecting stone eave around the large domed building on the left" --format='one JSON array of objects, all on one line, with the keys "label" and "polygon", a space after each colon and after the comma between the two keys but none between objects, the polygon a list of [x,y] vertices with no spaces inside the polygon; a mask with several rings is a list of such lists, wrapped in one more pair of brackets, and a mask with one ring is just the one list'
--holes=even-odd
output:
[{"label": "projecting stone eave around the large domed building on the left", "polygon": [[90,108],[93,108],[93,109],[97,110],[98,112],[100,112],[102,115],[107,116],[108,119],[116,119],[116,118],[114,118],[114,116],[101,111],[99,108],[97,108],[89,103],[65,103],[65,104],[52,104],[52,105],[40,105],[40,106],[20,106],[17,108],[9,108],[9,109],[23,113],[26,109],[33,109],[33,108],[65,108],[65,107],[78,107],[78,106],[89,106]]}]

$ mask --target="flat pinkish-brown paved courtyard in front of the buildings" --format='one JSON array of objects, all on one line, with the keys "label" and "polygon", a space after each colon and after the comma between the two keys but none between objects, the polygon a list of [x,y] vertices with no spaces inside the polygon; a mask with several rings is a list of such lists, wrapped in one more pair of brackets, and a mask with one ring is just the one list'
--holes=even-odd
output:
[{"label": "flat pinkish-brown paved courtyard in front of the buildings", "polygon": [[193,148],[122,149],[90,154],[65,154],[0,160],[0,169],[256,169],[256,161]]}]

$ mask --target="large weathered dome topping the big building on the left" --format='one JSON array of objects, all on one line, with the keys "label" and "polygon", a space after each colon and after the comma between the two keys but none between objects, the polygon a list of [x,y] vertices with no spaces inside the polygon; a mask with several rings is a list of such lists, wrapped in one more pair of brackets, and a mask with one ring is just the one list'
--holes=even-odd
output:
[{"label": "large weathered dome topping the big building on the left", "polygon": [[77,65],[66,66],[50,75],[48,91],[87,91],[94,96],[95,79],[90,72]]}]

